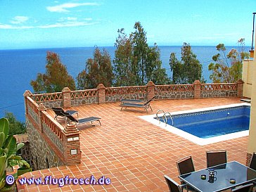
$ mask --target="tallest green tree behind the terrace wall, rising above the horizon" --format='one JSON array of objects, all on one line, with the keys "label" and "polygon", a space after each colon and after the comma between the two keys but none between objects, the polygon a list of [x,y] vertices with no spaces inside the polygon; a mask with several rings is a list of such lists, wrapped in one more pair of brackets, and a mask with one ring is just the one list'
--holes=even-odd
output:
[{"label": "tallest green tree behind the terrace wall, rising above the horizon", "polygon": [[148,46],[146,32],[141,23],[134,25],[135,32],[118,30],[115,42],[114,72],[116,86],[144,85],[152,80],[155,84],[169,82],[160,60],[160,49],[156,44]]}]

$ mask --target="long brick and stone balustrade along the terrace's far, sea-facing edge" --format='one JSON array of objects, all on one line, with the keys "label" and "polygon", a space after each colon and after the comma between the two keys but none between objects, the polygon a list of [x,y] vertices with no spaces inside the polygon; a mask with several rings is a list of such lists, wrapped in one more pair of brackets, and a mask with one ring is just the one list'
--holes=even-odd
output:
[{"label": "long brick and stone balustrade along the terrace's far, sea-facing edge", "polygon": [[[43,103],[46,108],[70,108],[71,106],[92,103],[117,102],[122,98],[139,99],[143,98],[146,93],[151,94],[148,98],[156,96],[157,99],[178,99],[241,96],[241,93],[243,93],[241,90],[243,90],[243,82],[241,81],[219,84],[200,84],[199,81],[195,81],[193,84],[165,85],[155,85],[153,82],[149,82],[146,86],[107,88],[101,84],[97,89],[70,91],[70,89],[64,88],[62,92],[34,94],[32,99],[37,103]],[[217,91],[219,92],[217,93]],[[226,91],[225,95],[224,91]]]}]

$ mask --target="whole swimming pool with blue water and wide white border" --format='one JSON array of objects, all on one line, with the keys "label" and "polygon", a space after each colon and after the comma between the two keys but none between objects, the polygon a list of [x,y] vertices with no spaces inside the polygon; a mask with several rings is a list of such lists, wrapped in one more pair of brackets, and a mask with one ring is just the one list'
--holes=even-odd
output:
[{"label": "whole swimming pool with blue water and wide white border", "polygon": [[249,132],[250,104],[248,103],[184,110],[170,114],[171,116],[166,115],[169,117],[167,124],[165,118],[160,118],[161,122],[159,122],[155,115],[141,116],[141,118],[201,146],[247,136]]}]

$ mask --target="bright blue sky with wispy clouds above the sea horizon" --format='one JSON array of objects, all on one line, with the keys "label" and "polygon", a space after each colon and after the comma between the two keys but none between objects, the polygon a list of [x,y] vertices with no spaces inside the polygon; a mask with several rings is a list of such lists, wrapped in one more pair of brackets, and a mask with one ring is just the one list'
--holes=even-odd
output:
[{"label": "bright blue sky with wispy clouds above the sea horizon", "polygon": [[113,46],[140,21],[148,44],[235,45],[252,40],[255,0],[0,0],[0,49]]}]

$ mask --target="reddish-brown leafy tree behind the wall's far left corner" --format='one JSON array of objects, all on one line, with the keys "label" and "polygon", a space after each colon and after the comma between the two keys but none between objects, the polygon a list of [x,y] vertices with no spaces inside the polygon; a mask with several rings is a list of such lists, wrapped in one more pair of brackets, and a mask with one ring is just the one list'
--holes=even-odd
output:
[{"label": "reddish-brown leafy tree behind the wall's far left corner", "polygon": [[36,93],[58,92],[64,87],[75,90],[75,80],[60,61],[57,53],[47,52],[46,73],[38,73],[37,79],[30,82]]}]

